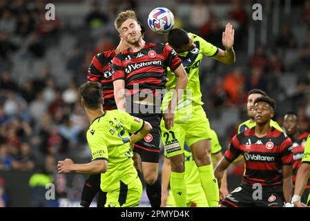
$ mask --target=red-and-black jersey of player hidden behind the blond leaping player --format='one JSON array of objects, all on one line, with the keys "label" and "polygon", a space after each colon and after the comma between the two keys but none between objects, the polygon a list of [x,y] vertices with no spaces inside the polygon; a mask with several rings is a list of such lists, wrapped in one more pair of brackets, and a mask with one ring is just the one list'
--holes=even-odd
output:
[{"label": "red-and-black jersey of player hidden behind the blond leaping player", "polygon": [[115,50],[101,52],[93,57],[93,60],[88,68],[88,81],[98,81],[101,83],[105,111],[117,109],[114,99],[112,80],[112,59],[115,55]]}]

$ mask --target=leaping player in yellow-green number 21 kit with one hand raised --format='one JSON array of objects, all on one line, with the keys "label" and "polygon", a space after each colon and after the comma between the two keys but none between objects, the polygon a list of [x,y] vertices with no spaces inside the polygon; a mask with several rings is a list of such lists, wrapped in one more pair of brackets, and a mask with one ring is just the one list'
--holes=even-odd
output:
[{"label": "leaping player in yellow-green number 21 kit with one hand raised", "polygon": [[[168,33],[168,44],[182,59],[182,64],[188,74],[188,85],[184,96],[177,104],[175,125],[172,128],[167,128],[166,122],[163,120],[161,122],[162,142],[171,162],[170,185],[176,206],[186,206],[184,142],[188,144],[193,153],[209,206],[217,206],[220,200],[217,180],[213,175],[213,166],[209,156],[211,128],[209,119],[202,108],[204,103],[200,91],[199,68],[204,55],[224,64],[233,64],[235,62],[234,34],[233,26],[230,23],[226,24],[222,33],[222,44],[226,50],[222,50],[201,37],[180,28],[175,28]],[[171,90],[177,88],[175,75],[168,72],[167,76],[169,79],[166,84],[168,93],[164,98],[163,109],[166,109],[166,104],[171,99]]]}]

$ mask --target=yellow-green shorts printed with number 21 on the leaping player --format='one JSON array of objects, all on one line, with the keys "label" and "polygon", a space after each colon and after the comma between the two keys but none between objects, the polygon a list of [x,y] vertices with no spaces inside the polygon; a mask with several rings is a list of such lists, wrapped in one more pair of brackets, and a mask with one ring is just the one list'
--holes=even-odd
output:
[{"label": "yellow-green shorts printed with number 21 on the leaping player", "polygon": [[211,139],[209,119],[201,105],[188,105],[177,110],[173,128],[167,130],[162,119],[160,129],[167,157],[184,153],[184,141],[191,146],[200,140]]}]

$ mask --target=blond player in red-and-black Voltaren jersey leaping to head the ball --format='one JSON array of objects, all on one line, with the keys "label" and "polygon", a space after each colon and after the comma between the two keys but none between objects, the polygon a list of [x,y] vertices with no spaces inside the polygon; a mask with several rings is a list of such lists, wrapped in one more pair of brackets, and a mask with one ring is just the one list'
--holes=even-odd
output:
[{"label": "blond player in red-and-black Voltaren jersey leaping to head the ball", "polygon": [[[146,182],[146,193],[151,206],[159,207],[162,187],[158,180],[159,166],[159,124],[162,119],[160,104],[162,90],[166,84],[166,68],[170,67],[177,76],[175,99],[180,98],[187,84],[182,61],[175,51],[164,44],[147,43],[142,39],[141,26],[132,10],[121,12],[115,19],[115,28],[130,46],[113,58],[113,85],[117,108],[147,120],[153,131],[144,140],[135,144],[134,151],[141,157],[141,170]],[[130,93],[126,110],[124,89]],[[164,121],[170,128],[174,122],[175,104],[164,111]],[[139,161],[139,160],[138,160]]]}]

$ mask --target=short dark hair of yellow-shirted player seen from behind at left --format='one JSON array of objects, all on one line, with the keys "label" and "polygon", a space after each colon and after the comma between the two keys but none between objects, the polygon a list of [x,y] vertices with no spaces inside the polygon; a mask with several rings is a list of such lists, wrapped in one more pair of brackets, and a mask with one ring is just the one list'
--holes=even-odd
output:
[{"label": "short dark hair of yellow-shirted player seen from behind at left", "polygon": [[102,89],[97,81],[88,81],[79,87],[79,93],[84,99],[85,106],[90,109],[97,109],[101,106]]}]

